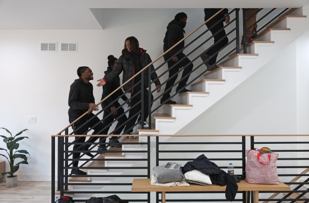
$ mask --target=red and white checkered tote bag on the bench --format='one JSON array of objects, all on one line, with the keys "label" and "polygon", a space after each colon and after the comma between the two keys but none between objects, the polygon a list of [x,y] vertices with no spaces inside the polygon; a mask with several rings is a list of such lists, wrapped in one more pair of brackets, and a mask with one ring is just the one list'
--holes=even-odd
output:
[{"label": "red and white checkered tote bag on the bench", "polygon": [[251,184],[279,185],[277,153],[261,153],[259,149],[246,150],[246,181]]}]

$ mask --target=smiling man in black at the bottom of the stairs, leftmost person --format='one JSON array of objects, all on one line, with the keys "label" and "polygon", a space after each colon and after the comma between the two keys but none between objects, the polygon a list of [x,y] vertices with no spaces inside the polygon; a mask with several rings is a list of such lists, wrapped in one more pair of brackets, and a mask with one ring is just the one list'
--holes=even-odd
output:
[{"label": "smiling man in black at the bottom of the stairs, leftmost person", "polygon": [[[81,66],[77,69],[77,75],[79,79],[76,79],[72,85],[70,86],[69,92],[69,122],[72,123],[82,114],[87,112],[86,115],[81,117],[78,121],[76,121],[72,128],[74,130],[74,134],[76,135],[85,135],[87,134],[87,130],[89,127],[96,124],[93,127],[93,135],[97,134],[101,129],[103,129],[104,125],[101,120],[95,116],[92,111],[98,110],[97,105],[94,103],[93,97],[93,87],[92,84],[89,82],[93,80],[93,73],[89,67]],[[88,122],[87,122],[88,121]],[[87,122],[87,123],[86,123]],[[98,137],[89,137],[87,142],[95,142]],[[85,142],[86,137],[75,137],[73,142]],[[106,138],[105,138],[106,139]],[[91,144],[81,145],[81,144],[74,144],[73,151],[88,151]],[[87,156],[92,157],[92,154],[85,153]],[[78,159],[80,153],[73,153],[73,159]],[[78,161],[73,162],[73,167],[78,166]],[[87,173],[80,171],[79,169],[72,169],[72,174],[75,175],[86,175]]]}]

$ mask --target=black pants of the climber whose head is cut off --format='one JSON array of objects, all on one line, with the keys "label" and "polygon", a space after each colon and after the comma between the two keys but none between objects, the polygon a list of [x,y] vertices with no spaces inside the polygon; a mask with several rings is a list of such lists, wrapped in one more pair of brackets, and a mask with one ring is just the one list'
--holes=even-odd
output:
[{"label": "black pants of the climber whose head is cut off", "polygon": [[[206,26],[208,28],[210,28],[212,25],[213,25],[212,22],[206,23]],[[216,61],[217,61],[217,56],[218,56],[219,52],[217,54],[215,54],[215,53],[229,43],[229,39],[227,38],[225,30],[223,29],[223,27],[224,27],[223,22],[219,22],[214,27],[210,28],[210,31],[213,35],[216,34],[216,32],[218,32],[220,29],[222,29],[215,36],[213,36],[214,37],[214,43],[218,42],[221,38],[223,38],[220,42],[218,42],[218,44],[216,44],[215,46],[213,46],[212,48],[210,48],[206,52],[206,54],[208,54],[209,56],[212,57],[208,61],[208,64],[210,64],[210,65],[215,64]]]}]

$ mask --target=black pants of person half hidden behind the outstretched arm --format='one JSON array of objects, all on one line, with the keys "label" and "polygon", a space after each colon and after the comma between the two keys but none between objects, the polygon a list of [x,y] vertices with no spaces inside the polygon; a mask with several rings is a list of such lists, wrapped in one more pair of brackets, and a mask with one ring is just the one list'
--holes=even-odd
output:
[{"label": "black pants of person half hidden behind the outstretched arm", "polygon": [[[106,103],[102,103],[102,108],[104,109],[105,106],[107,106],[107,105],[108,105],[107,102]],[[115,105],[116,108],[118,108],[120,106],[120,103],[119,102],[115,102],[114,105]],[[117,125],[115,127],[115,131],[112,134],[120,135],[120,133],[122,132],[123,128],[125,127],[125,124],[124,125],[122,125],[122,124],[128,119],[125,114],[121,115],[123,112],[124,112],[123,107],[120,107],[120,108],[117,109],[117,114],[116,115],[111,114],[111,115],[108,116],[108,114],[111,113],[110,106],[107,107],[106,109],[104,109],[103,125],[104,125],[104,127],[106,127],[106,129],[102,131],[103,135],[107,135],[108,130],[109,130],[110,126],[112,125],[111,122],[114,119],[116,119],[118,122],[117,122]],[[115,140],[115,139],[117,139],[117,137],[111,137],[110,139]],[[101,139],[100,139],[100,141],[101,141]]]}]

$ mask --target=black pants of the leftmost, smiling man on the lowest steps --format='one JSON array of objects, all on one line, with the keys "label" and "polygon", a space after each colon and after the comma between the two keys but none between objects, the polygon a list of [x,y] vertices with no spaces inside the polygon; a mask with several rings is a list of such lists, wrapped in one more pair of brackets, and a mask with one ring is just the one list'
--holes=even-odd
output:
[{"label": "black pants of the leftmost, smiling man on the lowest steps", "polygon": [[[95,134],[98,134],[98,132],[100,130],[103,129],[104,125],[103,123],[101,122],[101,120],[95,116],[93,113],[90,113],[90,114],[87,114],[85,116],[83,116],[82,118],[80,118],[77,122],[75,122],[73,125],[72,125],[72,128],[73,130],[74,129],[77,129],[79,126],[81,126],[82,124],[84,124],[87,120],[89,120],[90,118],[92,118],[87,124],[83,125],[80,129],[76,130],[74,132],[75,135],[85,135],[87,134],[86,131],[94,126],[95,124],[97,124],[95,127],[93,127],[93,135]],[[70,117],[69,116],[69,122],[73,122],[74,120],[76,120],[78,117]],[[99,137],[89,137],[89,139],[87,140],[87,142],[95,142]],[[86,137],[75,137],[75,140],[73,142],[85,142],[86,140]],[[106,140],[106,137],[104,137],[102,140],[100,140],[100,142],[105,142]],[[84,149],[83,150],[88,150],[89,147],[91,146],[91,144],[87,144],[87,145],[84,145]],[[77,149],[79,148],[79,149]],[[82,150],[82,144],[74,144],[73,146],[73,151],[75,150]],[[77,159],[78,157],[80,156],[80,152],[77,152],[77,153],[73,153],[73,159]],[[74,161],[73,162],[73,167],[77,167],[78,166],[78,161]]]}]

